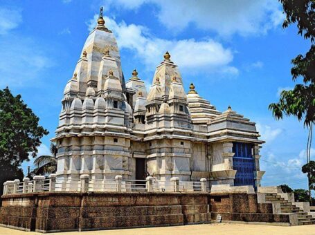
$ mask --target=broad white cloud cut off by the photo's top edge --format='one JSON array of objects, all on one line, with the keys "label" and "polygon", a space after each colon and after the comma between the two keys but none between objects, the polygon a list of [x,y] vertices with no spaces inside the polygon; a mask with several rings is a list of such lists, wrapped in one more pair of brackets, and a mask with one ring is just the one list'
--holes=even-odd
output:
[{"label": "broad white cloud cut off by the photo's top edge", "polygon": [[222,36],[262,35],[278,27],[284,19],[280,3],[274,0],[111,0],[105,6],[137,10],[144,3],[157,6],[155,16],[173,32],[193,23],[197,28],[214,30]]}]

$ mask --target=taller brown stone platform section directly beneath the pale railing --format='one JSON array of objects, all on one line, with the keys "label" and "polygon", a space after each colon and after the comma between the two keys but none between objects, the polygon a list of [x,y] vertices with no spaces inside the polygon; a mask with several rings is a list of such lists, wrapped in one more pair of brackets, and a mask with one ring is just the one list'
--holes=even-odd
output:
[{"label": "taller brown stone platform section directly beneath the pale railing", "polygon": [[36,232],[210,222],[208,194],[37,193],[2,197],[0,224]]}]

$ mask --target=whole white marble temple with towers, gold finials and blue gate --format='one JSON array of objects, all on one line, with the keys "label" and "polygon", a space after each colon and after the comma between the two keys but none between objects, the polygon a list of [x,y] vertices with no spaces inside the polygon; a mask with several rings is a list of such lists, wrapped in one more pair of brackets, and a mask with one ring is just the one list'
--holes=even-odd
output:
[{"label": "whole white marble temple with towers, gold finials and blue gate", "polygon": [[217,111],[193,84],[186,94],[168,52],[148,91],[136,70],[125,82],[116,39],[101,12],[64,88],[53,139],[57,178],[177,176],[207,178],[211,185],[257,187],[264,174],[259,136],[254,122],[231,107]]}]

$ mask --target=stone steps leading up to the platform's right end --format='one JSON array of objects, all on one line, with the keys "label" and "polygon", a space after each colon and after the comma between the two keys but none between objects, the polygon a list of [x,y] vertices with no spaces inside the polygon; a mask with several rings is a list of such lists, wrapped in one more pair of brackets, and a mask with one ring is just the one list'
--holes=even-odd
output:
[{"label": "stone steps leading up to the platform's right end", "polygon": [[298,225],[314,225],[315,218],[309,215],[307,212],[303,212],[303,209],[296,207],[288,200],[278,196],[278,194],[265,194],[267,203],[280,203],[281,213],[293,213],[298,216]]}]

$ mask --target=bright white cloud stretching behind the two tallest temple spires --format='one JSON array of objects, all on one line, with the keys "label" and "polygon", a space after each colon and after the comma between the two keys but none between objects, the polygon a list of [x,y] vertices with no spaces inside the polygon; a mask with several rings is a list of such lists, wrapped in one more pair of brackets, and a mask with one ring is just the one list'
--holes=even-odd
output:
[{"label": "bright white cloud stretching behind the two tallest temple spires", "polygon": [[[95,15],[87,24],[89,30],[96,25]],[[163,59],[166,50],[170,52],[172,61],[179,65],[182,71],[220,72],[237,75],[237,68],[230,65],[233,53],[213,39],[167,40],[150,35],[147,28],[105,17],[107,28],[116,35],[120,49],[132,50],[136,57],[149,69],[153,69]]]}]

